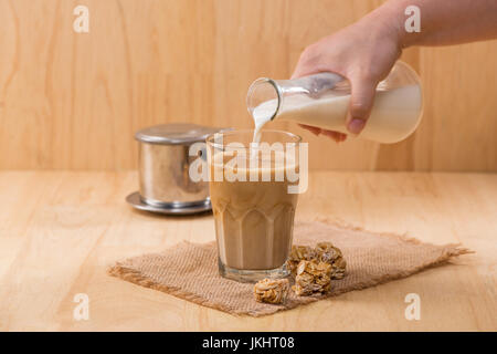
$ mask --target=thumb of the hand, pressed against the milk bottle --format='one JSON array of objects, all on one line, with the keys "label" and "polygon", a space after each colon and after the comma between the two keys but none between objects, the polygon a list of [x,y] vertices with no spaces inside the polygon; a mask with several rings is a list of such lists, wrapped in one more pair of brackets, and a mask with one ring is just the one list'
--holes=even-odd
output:
[{"label": "thumb of the hand, pressed against the milk bottle", "polygon": [[364,80],[355,80],[351,83],[352,93],[346,125],[350,133],[357,135],[364,128],[371,113],[377,84]]}]

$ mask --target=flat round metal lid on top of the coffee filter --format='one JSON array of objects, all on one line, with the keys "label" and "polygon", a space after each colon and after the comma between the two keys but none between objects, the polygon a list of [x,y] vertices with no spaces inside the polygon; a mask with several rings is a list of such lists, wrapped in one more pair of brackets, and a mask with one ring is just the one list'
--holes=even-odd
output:
[{"label": "flat round metal lid on top of the coffee filter", "polygon": [[221,128],[202,126],[188,123],[171,123],[154,125],[135,134],[138,142],[162,145],[186,145],[203,142],[205,138]]}]

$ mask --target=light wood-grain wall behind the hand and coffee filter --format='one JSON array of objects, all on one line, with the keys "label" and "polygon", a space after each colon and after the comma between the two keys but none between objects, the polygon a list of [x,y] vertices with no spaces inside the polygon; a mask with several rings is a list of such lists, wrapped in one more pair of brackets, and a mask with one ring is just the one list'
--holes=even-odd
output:
[{"label": "light wood-grain wall behind the hand and coffee filter", "polygon": [[[288,77],[300,51],[372,0],[0,0],[0,168],[136,167],[135,131],[165,122],[251,127],[258,76]],[[73,9],[89,8],[89,33]],[[313,168],[497,171],[497,42],[410,49],[425,113],[396,145],[336,145],[294,124]]]}]

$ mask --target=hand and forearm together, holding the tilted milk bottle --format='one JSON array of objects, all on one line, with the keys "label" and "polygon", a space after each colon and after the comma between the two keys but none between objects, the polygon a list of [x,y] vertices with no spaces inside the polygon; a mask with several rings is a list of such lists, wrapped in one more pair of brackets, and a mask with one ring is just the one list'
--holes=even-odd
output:
[{"label": "hand and forearm together, holding the tilted milk bottle", "polygon": [[[376,87],[383,80],[402,49],[410,45],[446,45],[497,38],[495,0],[419,0],[421,31],[404,29],[405,9],[411,0],[390,0],[358,22],[309,45],[302,53],[294,77],[334,72],[351,83],[346,125],[359,134],[371,113]],[[347,135],[302,125],[316,135],[342,142]]]}]

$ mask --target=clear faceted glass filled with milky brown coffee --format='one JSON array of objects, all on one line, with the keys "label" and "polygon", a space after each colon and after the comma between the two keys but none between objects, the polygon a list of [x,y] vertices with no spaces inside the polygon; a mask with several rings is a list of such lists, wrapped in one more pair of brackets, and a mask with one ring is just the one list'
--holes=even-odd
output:
[{"label": "clear faceted glass filled with milky brown coffee", "polygon": [[207,138],[209,187],[222,277],[255,282],[288,274],[300,137],[230,131]]}]

